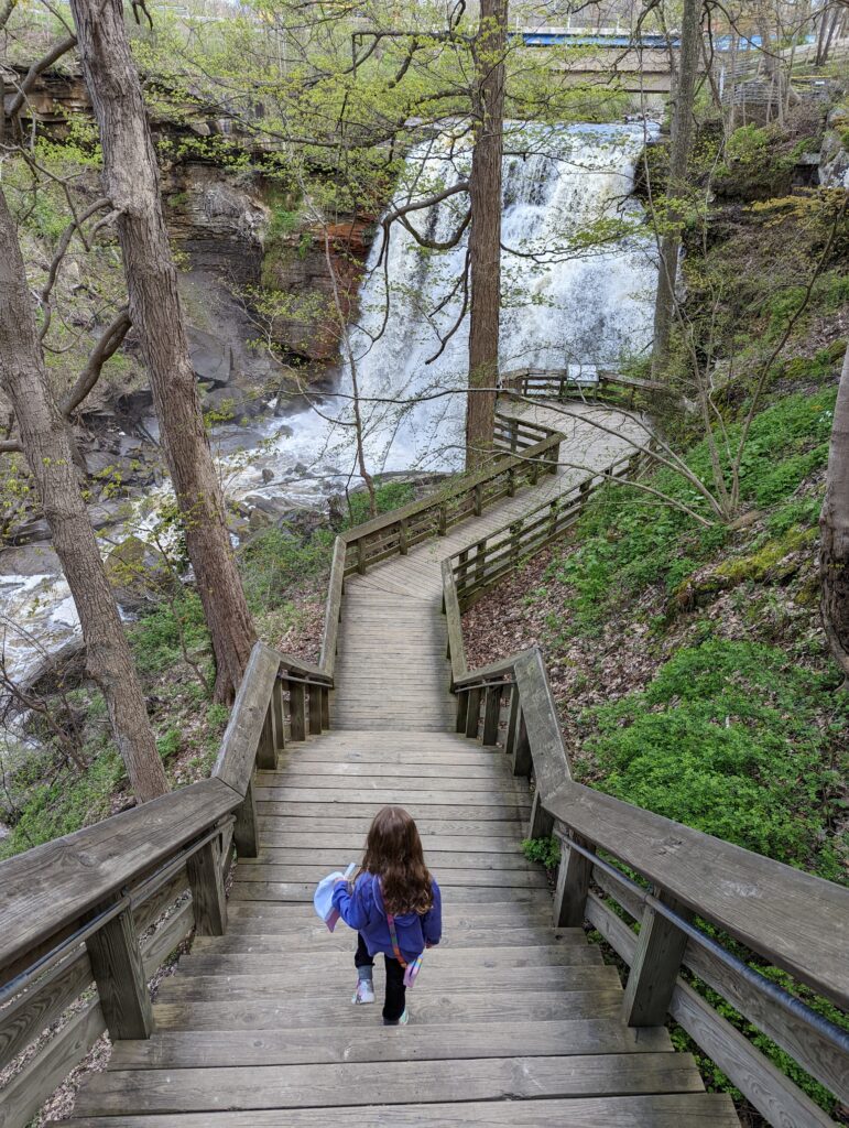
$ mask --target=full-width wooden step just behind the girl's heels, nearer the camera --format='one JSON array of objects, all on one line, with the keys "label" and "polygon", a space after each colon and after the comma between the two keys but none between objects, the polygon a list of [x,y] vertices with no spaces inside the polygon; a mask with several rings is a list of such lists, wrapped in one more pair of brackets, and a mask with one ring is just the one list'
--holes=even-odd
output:
[{"label": "full-width wooden step just behind the girl's heels, nearer the camera", "polygon": [[197,1069],[220,1066],[331,1065],[354,1061],[457,1060],[587,1054],[651,1054],[672,1048],[665,1030],[635,1031],[610,1019],[574,1022],[458,1023],[412,1028],[403,1041],[368,1028],[354,1031],[269,1030],[255,1038],[231,1031],[163,1031],[147,1041],[118,1042],[116,1069]]}]

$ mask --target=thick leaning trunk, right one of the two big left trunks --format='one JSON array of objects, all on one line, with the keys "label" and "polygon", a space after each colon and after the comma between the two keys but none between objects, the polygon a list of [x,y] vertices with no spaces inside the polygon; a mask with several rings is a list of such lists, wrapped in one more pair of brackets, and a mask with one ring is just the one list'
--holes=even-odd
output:
[{"label": "thick leaning trunk, right one of the two big left trunks", "polygon": [[255,634],[188,355],[139,73],[121,0],[72,0],[71,10],[100,129],[105,190],[118,211],[130,316],[150,373],[186,547],[212,635],[215,695],[224,699],[241,680]]}]

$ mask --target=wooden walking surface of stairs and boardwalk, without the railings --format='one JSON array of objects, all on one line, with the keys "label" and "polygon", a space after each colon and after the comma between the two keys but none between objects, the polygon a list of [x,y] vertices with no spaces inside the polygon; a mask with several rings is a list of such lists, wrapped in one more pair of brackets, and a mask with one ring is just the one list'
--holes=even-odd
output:
[{"label": "wooden walking surface of stairs and boardwalk, without the railings", "polygon": [[[575,431],[564,458],[619,452]],[[195,941],[162,982],[153,1037],[115,1045],[65,1128],[737,1123],[665,1029],[625,1024],[619,973],[583,929],[551,928],[546,879],[520,848],[527,784],[451,731],[440,561],[583,474],[563,465],[348,581],[334,731],[257,774],[262,847],[238,863],[227,934]],[[392,1030],[379,1005],[351,1005],[353,934],[329,935],[311,906],[384,803],[418,821],[444,900],[444,943],[408,995],[410,1024]],[[379,994],[381,980],[379,968]]]}]

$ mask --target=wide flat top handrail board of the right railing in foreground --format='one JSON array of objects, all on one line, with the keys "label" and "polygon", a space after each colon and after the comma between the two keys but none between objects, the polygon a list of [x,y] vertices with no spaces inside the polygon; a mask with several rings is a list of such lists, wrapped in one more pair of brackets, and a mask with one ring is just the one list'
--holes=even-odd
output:
[{"label": "wide flat top handrail board of the right railing in foreground", "polygon": [[849,1005],[849,889],[573,782],[547,805],[687,908]]}]

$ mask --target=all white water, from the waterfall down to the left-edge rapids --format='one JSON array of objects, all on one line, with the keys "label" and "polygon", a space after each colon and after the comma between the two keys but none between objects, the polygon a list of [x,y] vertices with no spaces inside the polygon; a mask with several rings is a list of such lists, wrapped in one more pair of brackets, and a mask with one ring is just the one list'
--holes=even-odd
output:
[{"label": "all white water, from the waterfall down to the left-edge rapids", "polygon": [[[527,156],[504,158],[502,241],[536,255],[539,262],[508,252],[502,256],[506,294],[499,341],[503,372],[571,363],[591,379],[594,365],[614,367],[625,354],[647,349],[656,266],[651,240],[637,230],[642,206],[630,195],[647,129],[654,127],[511,127],[505,149],[527,150]],[[468,150],[451,156],[451,147],[445,134],[409,156],[393,206],[410,197],[426,197],[468,174]],[[445,240],[465,206],[466,196],[457,195],[414,213],[410,222],[431,239]],[[589,230],[616,219],[633,221],[634,233],[617,235],[600,249],[581,249]],[[462,307],[461,296],[451,296],[451,290],[461,275],[466,246],[463,238],[453,249],[426,252],[396,223],[388,268],[378,265],[381,240],[372,247],[359,324],[352,332],[372,473],[452,469],[462,464],[468,320],[441,355],[427,361],[440,347],[440,334],[449,331]],[[221,459],[227,492],[248,501],[282,497],[293,509],[309,508],[343,488],[352,476],[356,482],[352,431],[326,418],[351,418],[351,390],[346,369],[338,395],[317,402],[320,415],[306,411],[285,421],[254,421],[254,441],[262,438],[262,446],[250,457]],[[401,404],[379,402],[387,399]],[[271,469],[271,482],[263,479],[264,469]],[[136,517],[130,522],[134,534],[143,535],[152,509],[156,497],[136,504]],[[0,627],[3,620],[26,626],[29,636],[0,631],[6,635],[12,673],[38,660],[34,640],[50,649],[78,629],[68,585],[55,573],[0,576]]]}]

